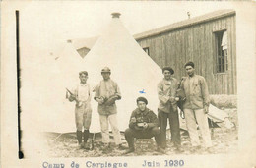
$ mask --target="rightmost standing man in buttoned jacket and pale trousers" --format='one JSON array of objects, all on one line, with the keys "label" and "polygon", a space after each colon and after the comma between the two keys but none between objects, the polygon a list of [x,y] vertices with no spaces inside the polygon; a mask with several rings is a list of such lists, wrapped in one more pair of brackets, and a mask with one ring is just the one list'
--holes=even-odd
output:
[{"label": "rightmost standing man in buttoned jacket and pale trousers", "polygon": [[205,147],[212,151],[212,140],[208,126],[207,113],[210,103],[208,87],[204,77],[196,75],[194,63],[185,64],[187,77],[182,81],[181,89],[186,94],[186,101],[183,109],[191,144],[192,151],[201,148],[197,124],[202,134]]}]

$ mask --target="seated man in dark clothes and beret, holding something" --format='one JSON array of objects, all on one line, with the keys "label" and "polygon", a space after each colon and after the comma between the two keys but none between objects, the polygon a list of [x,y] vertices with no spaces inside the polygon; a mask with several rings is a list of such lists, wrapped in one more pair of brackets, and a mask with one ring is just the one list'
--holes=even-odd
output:
[{"label": "seated man in dark clothes and beret, holding something", "polygon": [[125,130],[125,140],[128,142],[129,149],[125,152],[134,152],[134,138],[150,139],[155,137],[158,148],[157,151],[164,153],[160,148],[160,129],[158,128],[157,115],[146,107],[148,101],[144,97],[137,98],[137,106],[130,117],[129,128]]}]

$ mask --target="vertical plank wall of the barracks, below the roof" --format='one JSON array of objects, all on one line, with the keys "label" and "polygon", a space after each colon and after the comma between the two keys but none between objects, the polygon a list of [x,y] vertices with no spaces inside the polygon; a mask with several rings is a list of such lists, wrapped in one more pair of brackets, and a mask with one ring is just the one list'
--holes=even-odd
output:
[{"label": "vertical plank wall of the barracks, below the roof", "polygon": [[[228,38],[228,71],[217,74],[214,32],[224,29]],[[235,32],[235,16],[229,16],[137,41],[150,48],[150,57],[160,68],[173,67],[175,78],[185,76],[184,64],[193,61],[197,74],[206,78],[211,94],[236,94]]]}]

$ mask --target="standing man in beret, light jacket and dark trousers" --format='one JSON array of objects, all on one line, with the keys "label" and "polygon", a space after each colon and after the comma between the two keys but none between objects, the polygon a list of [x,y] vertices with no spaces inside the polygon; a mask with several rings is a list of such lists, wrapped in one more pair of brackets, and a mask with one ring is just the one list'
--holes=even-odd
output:
[{"label": "standing man in beret, light jacket and dark trousers", "polygon": [[175,100],[178,82],[175,78],[171,77],[174,74],[174,70],[172,68],[164,67],[162,69],[162,74],[164,78],[158,84],[158,95],[160,100],[158,117],[160,121],[161,147],[166,148],[166,127],[168,119],[171,140],[174,143],[176,151],[181,152],[179,118],[177,102]]}]

